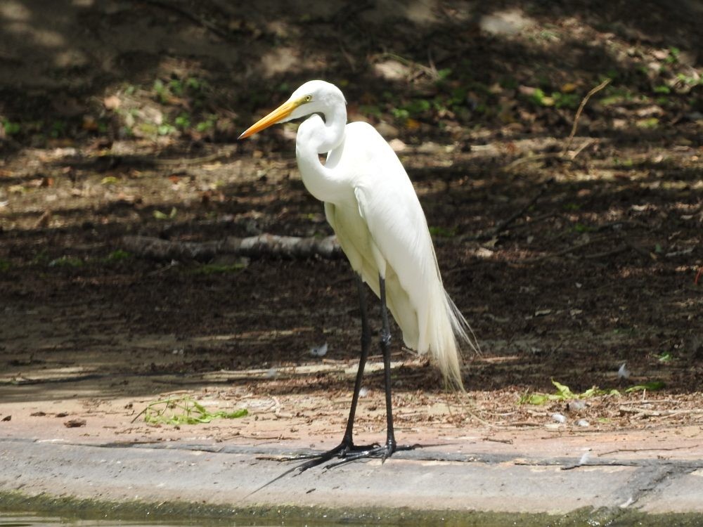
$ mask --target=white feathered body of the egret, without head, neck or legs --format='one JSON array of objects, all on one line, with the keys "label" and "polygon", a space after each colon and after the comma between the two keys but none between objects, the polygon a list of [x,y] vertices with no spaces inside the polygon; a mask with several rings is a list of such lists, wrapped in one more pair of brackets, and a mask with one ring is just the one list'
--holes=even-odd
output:
[{"label": "white feathered body of the egret, without head, neck or legs", "polygon": [[[325,200],[325,216],[352,269],[377,297],[379,276],[385,278],[387,306],[405,345],[431,351],[460,386],[456,334],[466,338],[463,318],[444,291],[423,208],[400,160],[373,126],[354,122],[330,150],[325,168],[350,190],[340,200]],[[315,195],[309,172],[302,178]]]}]

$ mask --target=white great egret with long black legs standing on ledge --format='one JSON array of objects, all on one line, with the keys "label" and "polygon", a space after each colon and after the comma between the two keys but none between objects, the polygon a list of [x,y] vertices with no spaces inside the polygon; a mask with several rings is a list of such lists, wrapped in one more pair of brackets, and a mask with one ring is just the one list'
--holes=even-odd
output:
[{"label": "white great egret with long black legs standing on ledge", "polygon": [[[446,294],[427,220],[403,165],[373,126],[347,124],[347,101],[334,84],[314,80],[295,90],[276,110],[250,126],[246,138],[272,124],[311,115],[297,131],[295,153],[302,181],[325,203],[325,216],[356,273],[361,305],[361,358],[347,429],[337,447],[302,464],[301,470],[333,457],[385,460],[399,446],[393,431],[390,384],[390,330],[387,308],[403,340],[419,353],[429,351],[444,377],[463,389],[461,343],[475,349],[466,320]],[[327,154],[323,164],[319,154]],[[385,370],[385,445],[354,445],[352,431],[370,332],[363,282],[381,301],[380,345]],[[338,463],[339,464],[339,463]]]}]

